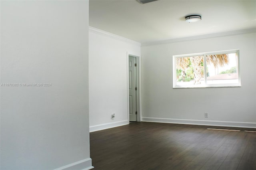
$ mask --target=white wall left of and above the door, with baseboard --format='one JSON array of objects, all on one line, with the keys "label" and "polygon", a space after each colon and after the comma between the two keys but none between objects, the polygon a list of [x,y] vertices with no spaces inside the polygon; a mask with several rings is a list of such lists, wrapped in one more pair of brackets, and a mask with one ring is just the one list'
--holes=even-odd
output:
[{"label": "white wall left of and above the door, with baseboard", "polygon": [[129,124],[127,51],[140,56],[140,43],[90,28],[90,131]]}]

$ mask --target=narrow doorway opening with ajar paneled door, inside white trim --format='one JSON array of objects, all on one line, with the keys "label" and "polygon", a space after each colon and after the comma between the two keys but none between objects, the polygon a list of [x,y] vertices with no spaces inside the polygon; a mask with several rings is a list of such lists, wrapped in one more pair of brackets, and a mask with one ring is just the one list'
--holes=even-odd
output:
[{"label": "narrow doorway opening with ajar paneled door, inside white trim", "polygon": [[138,57],[128,56],[129,121],[139,121]]}]

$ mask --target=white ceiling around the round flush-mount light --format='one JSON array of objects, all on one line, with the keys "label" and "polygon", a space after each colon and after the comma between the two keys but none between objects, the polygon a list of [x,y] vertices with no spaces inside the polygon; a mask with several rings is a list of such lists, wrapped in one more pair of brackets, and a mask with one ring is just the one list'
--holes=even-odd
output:
[{"label": "white ceiling around the round flush-mount light", "polygon": [[256,0],[90,0],[89,25],[140,43],[244,30],[256,28]]}]

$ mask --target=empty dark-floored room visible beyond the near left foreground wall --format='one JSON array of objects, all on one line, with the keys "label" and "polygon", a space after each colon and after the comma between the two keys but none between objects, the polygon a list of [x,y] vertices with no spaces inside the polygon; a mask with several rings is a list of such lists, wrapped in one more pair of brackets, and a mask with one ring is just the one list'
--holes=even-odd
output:
[{"label": "empty dark-floored room visible beyond the near left foreground wall", "polygon": [[255,170],[256,2],[142,2],[90,1],[92,165]]}]

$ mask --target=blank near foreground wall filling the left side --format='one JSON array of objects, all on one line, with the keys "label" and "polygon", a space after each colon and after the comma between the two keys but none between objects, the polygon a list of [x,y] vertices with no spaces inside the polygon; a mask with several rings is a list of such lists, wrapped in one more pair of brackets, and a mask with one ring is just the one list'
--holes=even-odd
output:
[{"label": "blank near foreground wall filling the left side", "polygon": [[1,1],[2,170],[91,167],[88,1]]}]

